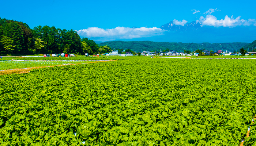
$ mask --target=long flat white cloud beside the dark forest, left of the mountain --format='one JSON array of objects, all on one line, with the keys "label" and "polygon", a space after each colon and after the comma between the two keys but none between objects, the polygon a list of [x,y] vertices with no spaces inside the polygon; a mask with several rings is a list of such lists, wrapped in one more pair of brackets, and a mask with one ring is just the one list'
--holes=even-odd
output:
[{"label": "long flat white cloud beside the dark forest, left of the mountain", "polygon": [[133,39],[142,37],[152,37],[155,35],[163,35],[161,28],[152,27],[140,27],[140,28],[129,28],[129,27],[116,27],[112,29],[98,28],[98,27],[88,27],[83,30],[76,30],[78,34],[82,37],[87,38],[102,38],[100,40],[111,41],[115,39]]}]

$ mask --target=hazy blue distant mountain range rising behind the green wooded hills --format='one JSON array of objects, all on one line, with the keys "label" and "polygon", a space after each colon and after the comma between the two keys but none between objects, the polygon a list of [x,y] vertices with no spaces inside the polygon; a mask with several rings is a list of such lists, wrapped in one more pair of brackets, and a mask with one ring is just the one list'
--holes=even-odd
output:
[{"label": "hazy blue distant mountain range rising behind the green wooded hills", "polygon": [[183,43],[226,43],[246,42],[251,43],[256,39],[255,26],[213,27],[201,26],[195,21],[184,26],[175,25],[173,21],[159,27],[164,35],[148,38],[116,39],[116,41],[157,41],[157,42],[183,42]]}]

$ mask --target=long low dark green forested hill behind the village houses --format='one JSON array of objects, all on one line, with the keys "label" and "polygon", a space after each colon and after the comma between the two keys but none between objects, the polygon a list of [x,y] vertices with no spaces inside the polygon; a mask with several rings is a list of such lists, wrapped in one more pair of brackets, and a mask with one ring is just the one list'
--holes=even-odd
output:
[{"label": "long low dark green forested hill behind the village houses", "polygon": [[98,44],[99,46],[108,45],[112,49],[131,49],[133,51],[160,51],[166,50],[176,50],[176,51],[184,51],[184,50],[240,50],[248,43],[170,43],[170,42],[151,42],[151,41],[109,41]]}]

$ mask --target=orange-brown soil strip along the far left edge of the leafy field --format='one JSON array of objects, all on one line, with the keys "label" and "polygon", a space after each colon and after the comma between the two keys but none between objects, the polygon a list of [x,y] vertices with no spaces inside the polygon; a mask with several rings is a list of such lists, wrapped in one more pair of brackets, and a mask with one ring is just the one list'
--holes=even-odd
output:
[{"label": "orange-brown soil strip along the far left edge of the leafy field", "polygon": [[[117,61],[117,60],[109,60],[109,61]],[[85,64],[91,64],[91,63],[97,63],[97,62],[107,62],[107,61],[94,61],[94,62],[88,62]],[[80,63],[78,63],[80,64]],[[68,65],[78,65],[78,64],[68,64]],[[55,65],[55,66],[64,66],[64,65]],[[3,74],[12,74],[12,73],[29,73],[31,69],[39,69],[39,68],[51,68],[51,67],[55,67],[55,66],[42,66],[42,67],[33,67],[33,68],[26,68],[26,69],[11,69],[11,70],[3,70],[0,71],[0,75]]]}]

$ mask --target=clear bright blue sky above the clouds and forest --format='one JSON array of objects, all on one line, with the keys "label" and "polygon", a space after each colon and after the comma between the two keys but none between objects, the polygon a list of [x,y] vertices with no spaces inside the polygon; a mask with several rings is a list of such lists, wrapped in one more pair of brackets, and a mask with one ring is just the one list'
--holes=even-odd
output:
[{"label": "clear bright blue sky above the clouds and forest", "polygon": [[[215,12],[211,14],[215,16],[217,20],[225,19],[225,16],[231,18],[232,15],[234,19],[237,17],[247,21],[248,19],[256,19],[255,0],[9,0],[1,1],[0,4],[2,5],[0,9],[1,18],[22,21],[27,23],[31,28],[39,25],[55,26],[67,30],[83,30],[88,27],[98,27],[106,30],[116,27],[126,28],[133,26],[159,28],[161,25],[169,23],[174,19],[180,22],[186,20],[189,23],[199,20],[200,16],[206,18],[206,14],[203,15],[203,13],[210,8],[217,8]],[[192,9],[200,12],[193,14],[195,10],[192,11]],[[253,26],[253,23],[250,25]],[[94,29],[92,31],[103,30]],[[85,36],[88,37],[89,35]],[[145,36],[150,37],[148,35]],[[107,37],[108,36],[105,36],[105,38]],[[141,37],[143,37],[143,35]],[[118,37],[114,37],[114,39],[116,38]]]}]

